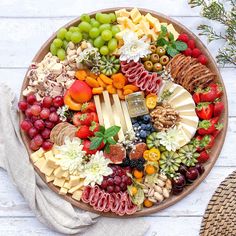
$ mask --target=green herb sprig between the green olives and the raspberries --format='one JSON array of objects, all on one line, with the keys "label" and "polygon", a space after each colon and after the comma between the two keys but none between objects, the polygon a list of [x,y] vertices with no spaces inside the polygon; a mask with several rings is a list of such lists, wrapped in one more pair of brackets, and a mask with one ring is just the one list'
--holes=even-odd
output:
[{"label": "green herb sprig between the green olives and the raspberries", "polygon": [[[167,40],[168,39],[168,40]],[[162,25],[161,32],[156,41],[157,46],[166,48],[167,54],[174,57],[179,52],[187,49],[187,44],[174,39],[174,35],[168,32],[167,28]]]}]

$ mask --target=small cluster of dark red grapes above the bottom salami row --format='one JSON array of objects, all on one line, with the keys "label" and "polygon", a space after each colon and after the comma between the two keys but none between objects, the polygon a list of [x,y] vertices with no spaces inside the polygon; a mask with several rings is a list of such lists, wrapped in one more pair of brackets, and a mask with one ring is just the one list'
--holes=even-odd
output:
[{"label": "small cluster of dark red grapes above the bottom salami row", "polygon": [[127,176],[127,173],[131,173],[131,168],[122,168],[118,165],[113,165],[111,168],[113,173],[103,177],[101,188],[108,193],[125,192],[127,186],[132,184],[132,179]]}]

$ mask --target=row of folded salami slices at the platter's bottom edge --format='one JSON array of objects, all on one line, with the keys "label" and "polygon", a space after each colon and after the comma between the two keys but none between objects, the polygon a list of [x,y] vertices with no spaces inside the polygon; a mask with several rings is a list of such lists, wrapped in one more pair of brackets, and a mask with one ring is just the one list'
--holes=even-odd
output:
[{"label": "row of folded salami slices at the platter's bottom edge", "polygon": [[95,210],[101,212],[114,212],[117,215],[131,215],[137,211],[127,192],[107,193],[98,186],[86,186],[81,200]]}]

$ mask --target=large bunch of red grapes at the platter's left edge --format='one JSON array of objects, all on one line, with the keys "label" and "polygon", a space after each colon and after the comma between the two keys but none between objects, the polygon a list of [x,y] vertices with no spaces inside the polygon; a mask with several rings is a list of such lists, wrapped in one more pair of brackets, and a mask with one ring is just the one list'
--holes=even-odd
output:
[{"label": "large bunch of red grapes at the platter's left edge", "polygon": [[42,102],[38,102],[33,94],[18,103],[19,109],[25,114],[20,127],[31,139],[31,150],[36,151],[42,147],[47,151],[52,148],[53,143],[49,140],[50,133],[52,128],[60,122],[57,109],[63,105],[64,101],[61,96],[44,97]]}]

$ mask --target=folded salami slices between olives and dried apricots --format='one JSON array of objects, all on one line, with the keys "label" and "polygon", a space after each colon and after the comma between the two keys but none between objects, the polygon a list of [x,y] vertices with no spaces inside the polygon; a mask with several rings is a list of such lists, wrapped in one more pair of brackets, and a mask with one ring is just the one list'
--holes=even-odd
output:
[{"label": "folded salami slices between olives and dried apricots", "polygon": [[142,91],[157,93],[162,78],[156,72],[149,73],[140,62],[121,62],[121,71],[130,83],[134,83]]}]

